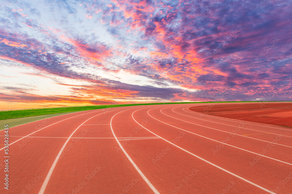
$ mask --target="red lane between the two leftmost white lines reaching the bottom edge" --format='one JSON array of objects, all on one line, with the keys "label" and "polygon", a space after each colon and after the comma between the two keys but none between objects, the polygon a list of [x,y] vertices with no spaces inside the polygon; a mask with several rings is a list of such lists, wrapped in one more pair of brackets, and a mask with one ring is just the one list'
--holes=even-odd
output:
[{"label": "red lane between the two leftmost white lines reaching the bottom edge", "polygon": [[[67,145],[63,146],[64,149],[60,150],[60,158],[55,163],[44,193],[55,193],[57,187],[61,193],[123,193],[130,187],[134,193],[153,193],[126,156],[117,152],[119,146],[110,125],[107,125],[121,110],[133,108],[108,111],[80,125],[82,128],[77,129]],[[128,137],[121,139],[125,138]],[[68,151],[62,154],[65,150]],[[39,193],[43,192],[40,190]]]}]

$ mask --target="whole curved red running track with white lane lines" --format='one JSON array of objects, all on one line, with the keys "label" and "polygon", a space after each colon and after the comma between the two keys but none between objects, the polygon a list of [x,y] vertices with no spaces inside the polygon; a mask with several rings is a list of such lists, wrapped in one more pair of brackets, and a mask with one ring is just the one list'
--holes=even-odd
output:
[{"label": "whole curved red running track with white lane lines", "polygon": [[117,107],[23,124],[9,129],[9,154],[2,130],[0,193],[292,193],[291,128],[190,107]]}]

